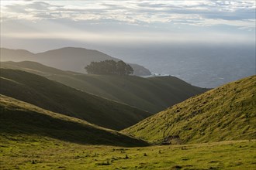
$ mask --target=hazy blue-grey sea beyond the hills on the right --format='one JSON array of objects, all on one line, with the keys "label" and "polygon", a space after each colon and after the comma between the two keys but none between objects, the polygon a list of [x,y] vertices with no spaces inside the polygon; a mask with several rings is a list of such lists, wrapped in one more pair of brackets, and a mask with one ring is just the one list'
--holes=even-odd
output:
[{"label": "hazy blue-grey sea beyond the hills on the right", "polygon": [[165,45],[102,48],[110,56],[170,74],[199,87],[218,87],[255,74],[254,46]]}]

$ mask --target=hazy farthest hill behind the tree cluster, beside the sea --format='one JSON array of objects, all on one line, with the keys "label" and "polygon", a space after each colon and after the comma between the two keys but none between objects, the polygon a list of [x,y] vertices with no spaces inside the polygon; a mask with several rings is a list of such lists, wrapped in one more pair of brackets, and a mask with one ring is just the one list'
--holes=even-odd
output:
[{"label": "hazy farthest hill behind the tree cluster, beside the sea", "polygon": [[[35,61],[61,70],[71,70],[79,73],[86,73],[84,68],[92,61],[99,62],[106,59],[120,60],[97,50],[84,48],[65,47],[43,53],[30,53],[23,49],[1,48],[1,61]],[[144,66],[133,63],[130,63],[130,66],[133,67],[134,75],[148,76],[151,74]]]}]

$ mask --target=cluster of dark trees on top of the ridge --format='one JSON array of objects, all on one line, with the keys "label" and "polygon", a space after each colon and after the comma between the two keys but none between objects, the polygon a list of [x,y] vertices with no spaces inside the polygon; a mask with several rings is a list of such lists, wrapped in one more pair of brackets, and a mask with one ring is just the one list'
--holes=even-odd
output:
[{"label": "cluster of dark trees on top of the ridge", "polygon": [[133,68],[123,61],[105,60],[100,62],[92,62],[85,66],[87,73],[92,74],[117,74],[129,75],[133,74]]}]

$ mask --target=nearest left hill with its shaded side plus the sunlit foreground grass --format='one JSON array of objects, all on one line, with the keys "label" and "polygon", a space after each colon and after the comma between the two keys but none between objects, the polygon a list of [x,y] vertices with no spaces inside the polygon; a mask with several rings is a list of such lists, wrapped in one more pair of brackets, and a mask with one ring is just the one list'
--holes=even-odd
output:
[{"label": "nearest left hill with its shaded side plus the sunlit foreground grass", "polygon": [[256,168],[254,140],[145,147],[136,138],[11,97],[0,95],[0,110],[3,170]]}]

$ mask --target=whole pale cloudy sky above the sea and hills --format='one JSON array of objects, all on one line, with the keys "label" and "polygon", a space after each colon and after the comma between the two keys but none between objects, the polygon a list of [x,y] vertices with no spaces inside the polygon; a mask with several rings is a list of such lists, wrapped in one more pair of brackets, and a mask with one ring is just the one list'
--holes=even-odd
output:
[{"label": "whole pale cloudy sky above the sea and hills", "polygon": [[255,44],[255,8],[254,0],[1,0],[1,46]]}]

